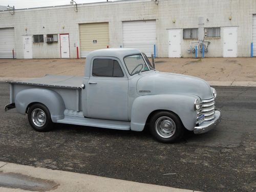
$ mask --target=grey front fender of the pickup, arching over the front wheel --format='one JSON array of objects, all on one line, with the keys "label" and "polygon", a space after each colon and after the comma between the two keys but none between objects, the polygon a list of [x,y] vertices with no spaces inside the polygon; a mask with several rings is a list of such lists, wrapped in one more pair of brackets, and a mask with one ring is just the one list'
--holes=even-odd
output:
[{"label": "grey front fender of the pickup, arching over the front wheel", "polygon": [[134,100],[131,111],[131,130],[142,131],[147,117],[156,110],[172,111],[179,116],[187,130],[194,130],[197,113],[194,101],[195,95],[160,94],[146,95]]}]

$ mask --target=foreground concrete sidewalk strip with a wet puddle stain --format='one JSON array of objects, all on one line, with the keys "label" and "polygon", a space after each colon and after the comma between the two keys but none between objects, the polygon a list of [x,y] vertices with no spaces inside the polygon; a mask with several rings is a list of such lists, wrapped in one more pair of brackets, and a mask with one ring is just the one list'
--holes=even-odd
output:
[{"label": "foreground concrete sidewalk strip with a wet puddle stain", "polygon": [[[12,179],[13,177],[15,179]],[[6,162],[0,162],[0,178],[2,178],[0,191],[24,191],[38,186],[50,186],[51,191],[194,191]],[[38,185],[36,185],[37,182]],[[40,188],[36,189],[40,190]]]}]

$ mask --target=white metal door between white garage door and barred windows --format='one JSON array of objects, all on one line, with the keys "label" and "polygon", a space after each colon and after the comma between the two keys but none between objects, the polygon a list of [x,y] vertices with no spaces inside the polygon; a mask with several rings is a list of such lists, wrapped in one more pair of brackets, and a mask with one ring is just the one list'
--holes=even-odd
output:
[{"label": "white metal door between white garage door and barred windows", "polygon": [[181,57],[181,29],[169,29],[169,57]]}]

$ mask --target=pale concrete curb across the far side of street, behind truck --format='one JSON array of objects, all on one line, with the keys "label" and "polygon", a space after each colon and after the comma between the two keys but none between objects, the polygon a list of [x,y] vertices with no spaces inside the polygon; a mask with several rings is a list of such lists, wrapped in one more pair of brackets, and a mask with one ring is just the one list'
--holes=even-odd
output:
[{"label": "pale concrete curb across the far side of street, behind truck", "polygon": [[[37,77],[0,77],[4,81],[26,81]],[[206,80],[207,81],[207,80]],[[256,81],[207,81],[210,86],[231,86],[231,87],[256,87]]]}]

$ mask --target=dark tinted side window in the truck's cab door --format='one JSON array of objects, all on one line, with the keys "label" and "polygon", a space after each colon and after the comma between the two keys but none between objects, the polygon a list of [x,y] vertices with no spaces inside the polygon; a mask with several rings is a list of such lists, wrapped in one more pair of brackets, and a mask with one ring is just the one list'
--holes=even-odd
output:
[{"label": "dark tinted side window in the truck's cab door", "polygon": [[94,59],[92,74],[97,77],[123,77],[118,61],[113,59]]}]

